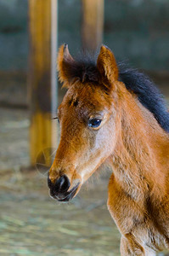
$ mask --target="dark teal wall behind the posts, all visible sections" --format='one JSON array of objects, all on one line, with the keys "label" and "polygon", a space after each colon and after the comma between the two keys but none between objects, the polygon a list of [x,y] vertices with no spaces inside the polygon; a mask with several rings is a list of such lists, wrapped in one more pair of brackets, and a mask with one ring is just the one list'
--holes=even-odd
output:
[{"label": "dark teal wall behind the posts, all visible sections", "polygon": [[[27,9],[27,0],[0,0],[0,70],[26,70]],[[81,49],[81,11],[80,0],[59,0],[59,44],[73,53]],[[135,67],[168,70],[168,27],[168,0],[104,0],[104,44]]]}]

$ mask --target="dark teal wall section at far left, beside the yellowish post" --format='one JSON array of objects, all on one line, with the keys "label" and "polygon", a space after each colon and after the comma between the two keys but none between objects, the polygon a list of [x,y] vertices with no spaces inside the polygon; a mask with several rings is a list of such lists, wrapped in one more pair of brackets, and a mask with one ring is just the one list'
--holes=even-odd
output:
[{"label": "dark teal wall section at far left, beside the yellowish post", "polygon": [[27,0],[0,0],[0,70],[25,70]]}]

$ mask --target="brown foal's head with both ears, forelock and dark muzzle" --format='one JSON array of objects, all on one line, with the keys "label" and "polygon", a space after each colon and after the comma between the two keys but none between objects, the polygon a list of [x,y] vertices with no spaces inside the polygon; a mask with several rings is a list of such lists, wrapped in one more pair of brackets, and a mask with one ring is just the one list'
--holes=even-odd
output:
[{"label": "brown foal's head with both ears, forelock and dark muzzle", "polygon": [[115,57],[105,46],[92,63],[74,60],[62,45],[58,68],[68,90],[58,109],[61,137],[48,186],[55,199],[70,201],[115,148],[121,82]]}]

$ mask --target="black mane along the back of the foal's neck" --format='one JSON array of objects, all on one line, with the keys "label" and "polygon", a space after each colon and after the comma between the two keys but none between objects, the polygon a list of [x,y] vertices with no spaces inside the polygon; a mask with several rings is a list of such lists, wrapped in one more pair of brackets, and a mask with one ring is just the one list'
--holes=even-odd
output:
[{"label": "black mane along the back of the foal's neck", "polygon": [[149,109],[161,127],[169,132],[169,112],[160,90],[148,76],[138,72],[137,69],[132,69],[121,63],[118,67],[120,79],[126,85],[127,90],[136,94],[139,102]]}]

